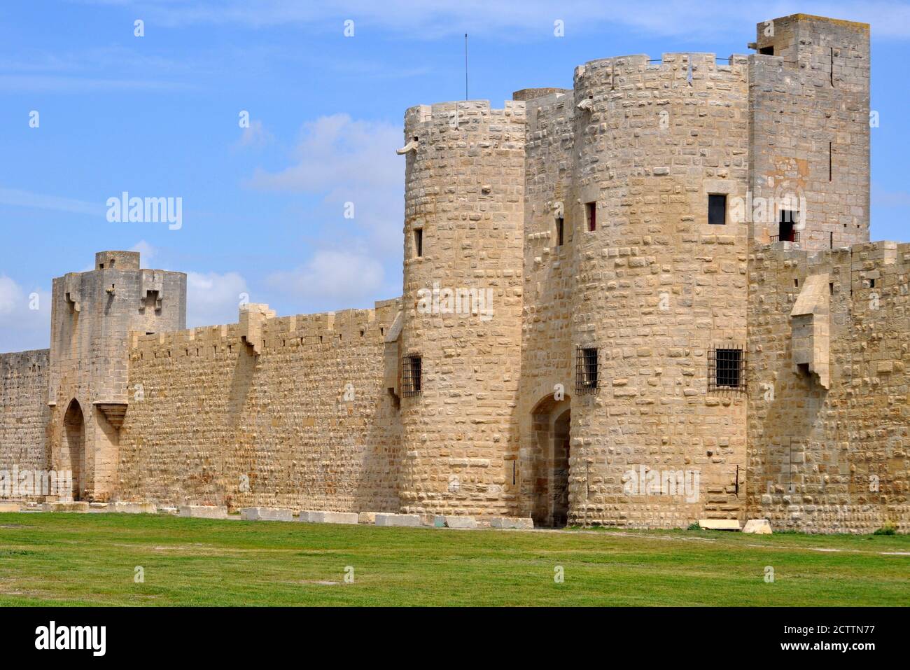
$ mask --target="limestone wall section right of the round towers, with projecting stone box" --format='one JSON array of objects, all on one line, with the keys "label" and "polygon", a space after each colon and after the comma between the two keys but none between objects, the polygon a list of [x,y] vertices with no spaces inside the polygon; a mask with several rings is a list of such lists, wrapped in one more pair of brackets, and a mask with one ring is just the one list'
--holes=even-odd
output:
[{"label": "limestone wall section right of the round towers, with projecting stone box", "polygon": [[[808,533],[907,532],[910,244],[783,246],[749,263],[750,515]],[[806,325],[814,360],[800,366]]]}]

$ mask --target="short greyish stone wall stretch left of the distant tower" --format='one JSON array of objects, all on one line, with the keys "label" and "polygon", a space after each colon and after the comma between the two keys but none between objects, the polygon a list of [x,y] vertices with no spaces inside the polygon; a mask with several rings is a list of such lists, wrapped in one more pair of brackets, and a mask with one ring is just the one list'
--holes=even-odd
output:
[{"label": "short greyish stone wall stretch left of the distant tower", "polygon": [[0,470],[47,469],[49,354],[0,354]]}]

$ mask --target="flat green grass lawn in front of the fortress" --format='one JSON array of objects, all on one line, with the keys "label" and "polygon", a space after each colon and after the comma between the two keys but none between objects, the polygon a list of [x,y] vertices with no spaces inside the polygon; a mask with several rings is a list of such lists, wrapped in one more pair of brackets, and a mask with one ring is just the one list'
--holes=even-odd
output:
[{"label": "flat green grass lawn in front of the fortress", "polygon": [[0,605],[905,605],[910,555],[885,552],[910,536],[0,513]]}]

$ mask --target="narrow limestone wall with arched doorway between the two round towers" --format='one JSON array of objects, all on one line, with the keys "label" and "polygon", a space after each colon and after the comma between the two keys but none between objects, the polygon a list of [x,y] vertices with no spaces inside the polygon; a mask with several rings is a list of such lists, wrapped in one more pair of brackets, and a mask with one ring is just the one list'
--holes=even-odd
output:
[{"label": "narrow limestone wall with arched doorway between the two round towers", "polygon": [[[565,504],[564,464],[558,462],[555,423],[574,394],[571,307],[576,233],[566,212],[574,201],[574,96],[543,89],[519,91],[525,133],[524,309],[521,331],[521,454],[517,470],[521,516],[551,525]],[[559,244],[558,219],[562,219]],[[557,476],[559,474],[560,476]]]}]

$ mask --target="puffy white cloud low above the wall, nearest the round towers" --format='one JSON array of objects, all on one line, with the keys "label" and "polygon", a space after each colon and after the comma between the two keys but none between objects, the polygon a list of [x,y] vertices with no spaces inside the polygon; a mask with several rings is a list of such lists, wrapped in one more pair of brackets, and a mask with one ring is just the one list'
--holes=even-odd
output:
[{"label": "puffy white cloud low above the wall, nearest the round towers", "polygon": [[376,299],[383,274],[382,265],[369,254],[321,250],[298,269],[272,273],[267,283],[289,296],[344,309]]}]

